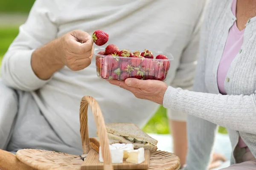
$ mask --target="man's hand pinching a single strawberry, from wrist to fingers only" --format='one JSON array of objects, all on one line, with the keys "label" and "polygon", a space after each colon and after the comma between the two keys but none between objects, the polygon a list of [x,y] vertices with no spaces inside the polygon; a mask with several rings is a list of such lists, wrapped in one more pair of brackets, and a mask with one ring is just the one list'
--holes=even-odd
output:
[{"label": "man's hand pinching a single strawberry, from wrist to fingers only", "polygon": [[72,71],[88,67],[93,57],[93,39],[84,31],[75,30],[58,39],[59,61]]}]

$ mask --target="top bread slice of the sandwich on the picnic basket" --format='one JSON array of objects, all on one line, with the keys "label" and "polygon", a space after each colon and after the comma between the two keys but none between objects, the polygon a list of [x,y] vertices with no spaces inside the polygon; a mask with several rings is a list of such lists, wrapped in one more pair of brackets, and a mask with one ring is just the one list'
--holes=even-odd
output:
[{"label": "top bread slice of the sandwich on the picnic basket", "polygon": [[106,124],[106,129],[108,133],[118,136],[132,137],[138,141],[145,141],[154,145],[157,145],[158,142],[133,123],[109,123]]}]

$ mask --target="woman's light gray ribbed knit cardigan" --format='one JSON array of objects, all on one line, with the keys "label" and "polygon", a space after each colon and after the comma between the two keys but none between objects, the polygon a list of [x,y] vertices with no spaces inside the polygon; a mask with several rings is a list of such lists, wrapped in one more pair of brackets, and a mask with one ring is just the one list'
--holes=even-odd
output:
[{"label": "woman's light gray ribbed knit cardigan", "polygon": [[207,7],[194,90],[169,86],[163,99],[165,108],[192,115],[188,120],[187,170],[206,169],[216,124],[228,129],[233,148],[231,164],[239,163],[244,152],[236,148],[239,136],[256,157],[256,17],[248,20],[241,50],[227,73],[227,95],[219,94],[217,85],[218,64],[229,29],[236,21],[231,3],[232,0],[212,0]]}]

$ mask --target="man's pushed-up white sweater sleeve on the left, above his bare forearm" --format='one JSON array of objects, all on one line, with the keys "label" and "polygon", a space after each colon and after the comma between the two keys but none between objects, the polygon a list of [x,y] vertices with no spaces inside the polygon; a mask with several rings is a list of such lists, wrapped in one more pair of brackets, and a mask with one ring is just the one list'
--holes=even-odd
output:
[{"label": "man's pushed-up white sweater sleeve on the left, above his bare forearm", "polygon": [[39,79],[31,66],[33,51],[53,40],[57,34],[56,18],[52,11],[58,8],[50,0],[36,0],[19,34],[3,57],[3,82],[15,89],[34,91],[48,80]]}]

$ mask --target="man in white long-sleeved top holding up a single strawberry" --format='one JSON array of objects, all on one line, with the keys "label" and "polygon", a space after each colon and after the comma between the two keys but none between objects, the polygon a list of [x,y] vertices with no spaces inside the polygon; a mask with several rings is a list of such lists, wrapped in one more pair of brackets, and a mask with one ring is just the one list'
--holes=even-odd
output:
[{"label": "man in white long-sleeved top holding up a single strawberry", "polygon": [[[171,52],[166,83],[189,89],[204,6],[205,0],[36,0],[3,58],[1,105],[12,107],[0,111],[1,117],[9,114],[0,120],[1,148],[81,154],[79,103],[84,95],[99,102],[105,122],[143,127],[159,105],[97,77],[90,35],[100,29],[110,35],[108,44],[121,49]],[[186,116],[169,111],[169,118],[175,153],[184,164]],[[90,110],[88,122],[89,135],[95,136]]]}]

